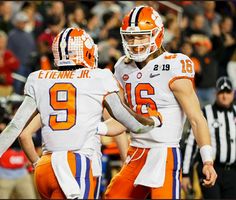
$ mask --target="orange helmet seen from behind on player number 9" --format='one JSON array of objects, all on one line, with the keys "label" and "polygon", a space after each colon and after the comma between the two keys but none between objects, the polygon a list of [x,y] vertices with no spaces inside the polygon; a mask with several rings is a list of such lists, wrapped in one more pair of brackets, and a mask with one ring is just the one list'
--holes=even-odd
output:
[{"label": "orange helmet seen from behind on player number 9", "polygon": [[55,65],[58,67],[97,67],[97,45],[83,29],[66,28],[61,31],[53,40],[52,52]]}]

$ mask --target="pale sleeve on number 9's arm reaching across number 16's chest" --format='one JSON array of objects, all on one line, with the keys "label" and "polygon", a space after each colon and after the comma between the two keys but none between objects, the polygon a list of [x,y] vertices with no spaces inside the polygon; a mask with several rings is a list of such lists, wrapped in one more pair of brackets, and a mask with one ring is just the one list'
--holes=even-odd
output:
[{"label": "pale sleeve on number 9's arm reaching across number 16's chest", "polygon": [[114,117],[125,127],[134,133],[144,133],[150,131],[154,126],[143,125],[135,119],[133,115],[124,107],[117,93],[108,94],[105,97]]}]

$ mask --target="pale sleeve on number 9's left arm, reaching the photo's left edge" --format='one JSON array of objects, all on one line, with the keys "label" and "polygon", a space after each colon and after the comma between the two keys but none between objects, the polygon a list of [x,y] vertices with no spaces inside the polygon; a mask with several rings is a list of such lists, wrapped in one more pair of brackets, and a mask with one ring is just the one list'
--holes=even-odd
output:
[{"label": "pale sleeve on number 9's left arm, reaching the photo's left edge", "polygon": [[11,122],[0,134],[0,157],[20,135],[36,109],[34,99],[26,96]]}]

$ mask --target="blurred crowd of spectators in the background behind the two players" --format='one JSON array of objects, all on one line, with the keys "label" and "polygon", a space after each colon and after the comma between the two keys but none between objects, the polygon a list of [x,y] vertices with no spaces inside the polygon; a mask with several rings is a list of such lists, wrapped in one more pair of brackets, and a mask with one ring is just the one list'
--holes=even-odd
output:
[{"label": "blurred crowd of spectators in the background behind the two players", "polygon": [[[228,76],[236,90],[235,1],[1,1],[0,132],[22,101],[28,75],[54,68],[51,45],[60,31],[71,26],[85,29],[98,44],[99,67],[114,71],[114,64],[123,55],[122,18],[138,5],[152,6],[160,13],[165,25],[165,49],[182,52],[193,60],[194,84],[202,106],[215,101],[215,84],[220,76]],[[40,140],[37,134],[39,153]],[[0,198],[35,198],[32,178],[25,179],[32,169],[19,154],[17,141],[11,148],[20,159],[9,164],[7,170],[0,160],[0,188],[6,179],[13,182],[6,196],[1,196],[6,188],[0,191]],[[103,153],[101,192],[121,165],[112,139],[103,139]],[[21,194],[22,185],[27,183],[32,190]]]}]

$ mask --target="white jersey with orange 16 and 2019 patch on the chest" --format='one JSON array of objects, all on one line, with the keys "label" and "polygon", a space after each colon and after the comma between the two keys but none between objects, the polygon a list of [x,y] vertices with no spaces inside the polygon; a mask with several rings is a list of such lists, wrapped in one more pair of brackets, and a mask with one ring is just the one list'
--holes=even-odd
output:
[{"label": "white jersey with orange 16 and 2019 patch on the chest", "polygon": [[131,145],[150,148],[159,145],[178,146],[185,122],[185,114],[170,90],[170,84],[179,78],[194,78],[194,66],[184,54],[165,52],[139,69],[135,62],[124,63],[125,57],[115,65],[115,77],[125,91],[130,107],[148,116],[147,106],[158,110],[163,117],[162,127],[148,133],[131,133]]}]

